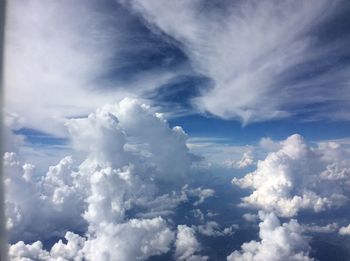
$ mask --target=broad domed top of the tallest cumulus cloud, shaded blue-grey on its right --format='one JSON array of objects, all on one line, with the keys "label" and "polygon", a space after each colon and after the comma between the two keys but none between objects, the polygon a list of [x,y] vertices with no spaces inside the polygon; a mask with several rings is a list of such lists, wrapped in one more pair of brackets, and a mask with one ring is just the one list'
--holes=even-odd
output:
[{"label": "broad domed top of the tallest cumulus cloud, shaded blue-grey on its right", "polygon": [[106,105],[88,118],[72,119],[66,125],[77,150],[114,167],[137,159],[134,165],[142,171],[145,166],[153,168],[158,178],[169,180],[185,175],[191,164],[182,128],[170,129],[159,114],[135,99]]}]

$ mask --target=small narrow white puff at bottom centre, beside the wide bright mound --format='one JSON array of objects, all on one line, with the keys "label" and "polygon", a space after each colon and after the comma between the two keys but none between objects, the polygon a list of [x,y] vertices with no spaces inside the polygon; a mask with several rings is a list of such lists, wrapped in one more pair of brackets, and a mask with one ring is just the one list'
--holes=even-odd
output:
[{"label": "small narrow white puff at bottom centre, beside the wide bright mound", "polygon": [[200,250],[200,243],[196,239],[195,231],[186,225],[177,226],[175,241],[175,257],[177,260],[207,260],[207,257],[195,255]]}]

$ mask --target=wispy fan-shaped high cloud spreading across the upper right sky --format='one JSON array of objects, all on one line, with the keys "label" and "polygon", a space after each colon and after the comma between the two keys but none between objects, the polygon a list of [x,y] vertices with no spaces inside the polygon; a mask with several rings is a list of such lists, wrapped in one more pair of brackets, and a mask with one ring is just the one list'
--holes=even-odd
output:
[{"label": "wispy fan-shaped high cloud spreading across the upper right sky", "polygon": [[[151,28],[180,43],[194,68],[212,79],[212,89],[193,100],[199,110],[248,123],[298,114],[317,104],[314,117],[349,119],[342,102],[349,99],[349,66],[331,70],[322,63],[343,55],[348,38],[325,44],[317,35],[339,10],[338,1],[127,3]],[[303,72],[317,62],[325,73],[312,71],[306,79]]]}]

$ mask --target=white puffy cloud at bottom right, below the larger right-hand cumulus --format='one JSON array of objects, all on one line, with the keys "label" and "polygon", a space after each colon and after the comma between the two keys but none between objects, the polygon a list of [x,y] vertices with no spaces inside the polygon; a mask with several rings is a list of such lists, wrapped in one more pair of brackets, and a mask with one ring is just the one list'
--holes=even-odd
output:
[{"label": "white puffy cloud at bottom right, below the larger right-hand cumulus", "polygon": [[281,224],[273,213],[259,212],[260,241],[250,241],[227,257],[228,261],[313,260],[308,239],[295,219]]}]

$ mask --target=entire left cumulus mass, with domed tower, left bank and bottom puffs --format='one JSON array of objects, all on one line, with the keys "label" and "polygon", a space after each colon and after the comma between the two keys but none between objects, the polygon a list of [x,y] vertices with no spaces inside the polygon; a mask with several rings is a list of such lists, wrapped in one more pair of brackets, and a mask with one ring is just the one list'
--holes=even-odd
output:
[{"label": "entire left cumulus mass, with domed tower, left bank and bottom puffs", "polygon": [[[168,252],[175,240],[168,221],[161,216],[136,216],[148,213],[150,202],[167,210],[186,201],[186,194],[198,197],[198,202],[213,194],[188,187],[178,194],[160,194],[157,182],[181,180],[188,173],[191,155],[184,131],[170,129],[161,115],[133,99],[106,105],[66,125],[84,161],[65,157],[45,176],[37,177],[34,166],[22,164],[15,153],[6,153],[5,182],[12,241],[47,240],[66,231],[67,242],[59,241],[48,251],[40,241],[19,241],[10,247],[10,257],[144,260]],[[183,238],[193,236],[186,231],[180,226],[176,241],[181,260],[190,258],[178,254],[183,251]],[[199,247],[191,240],[193,247]]]}]

